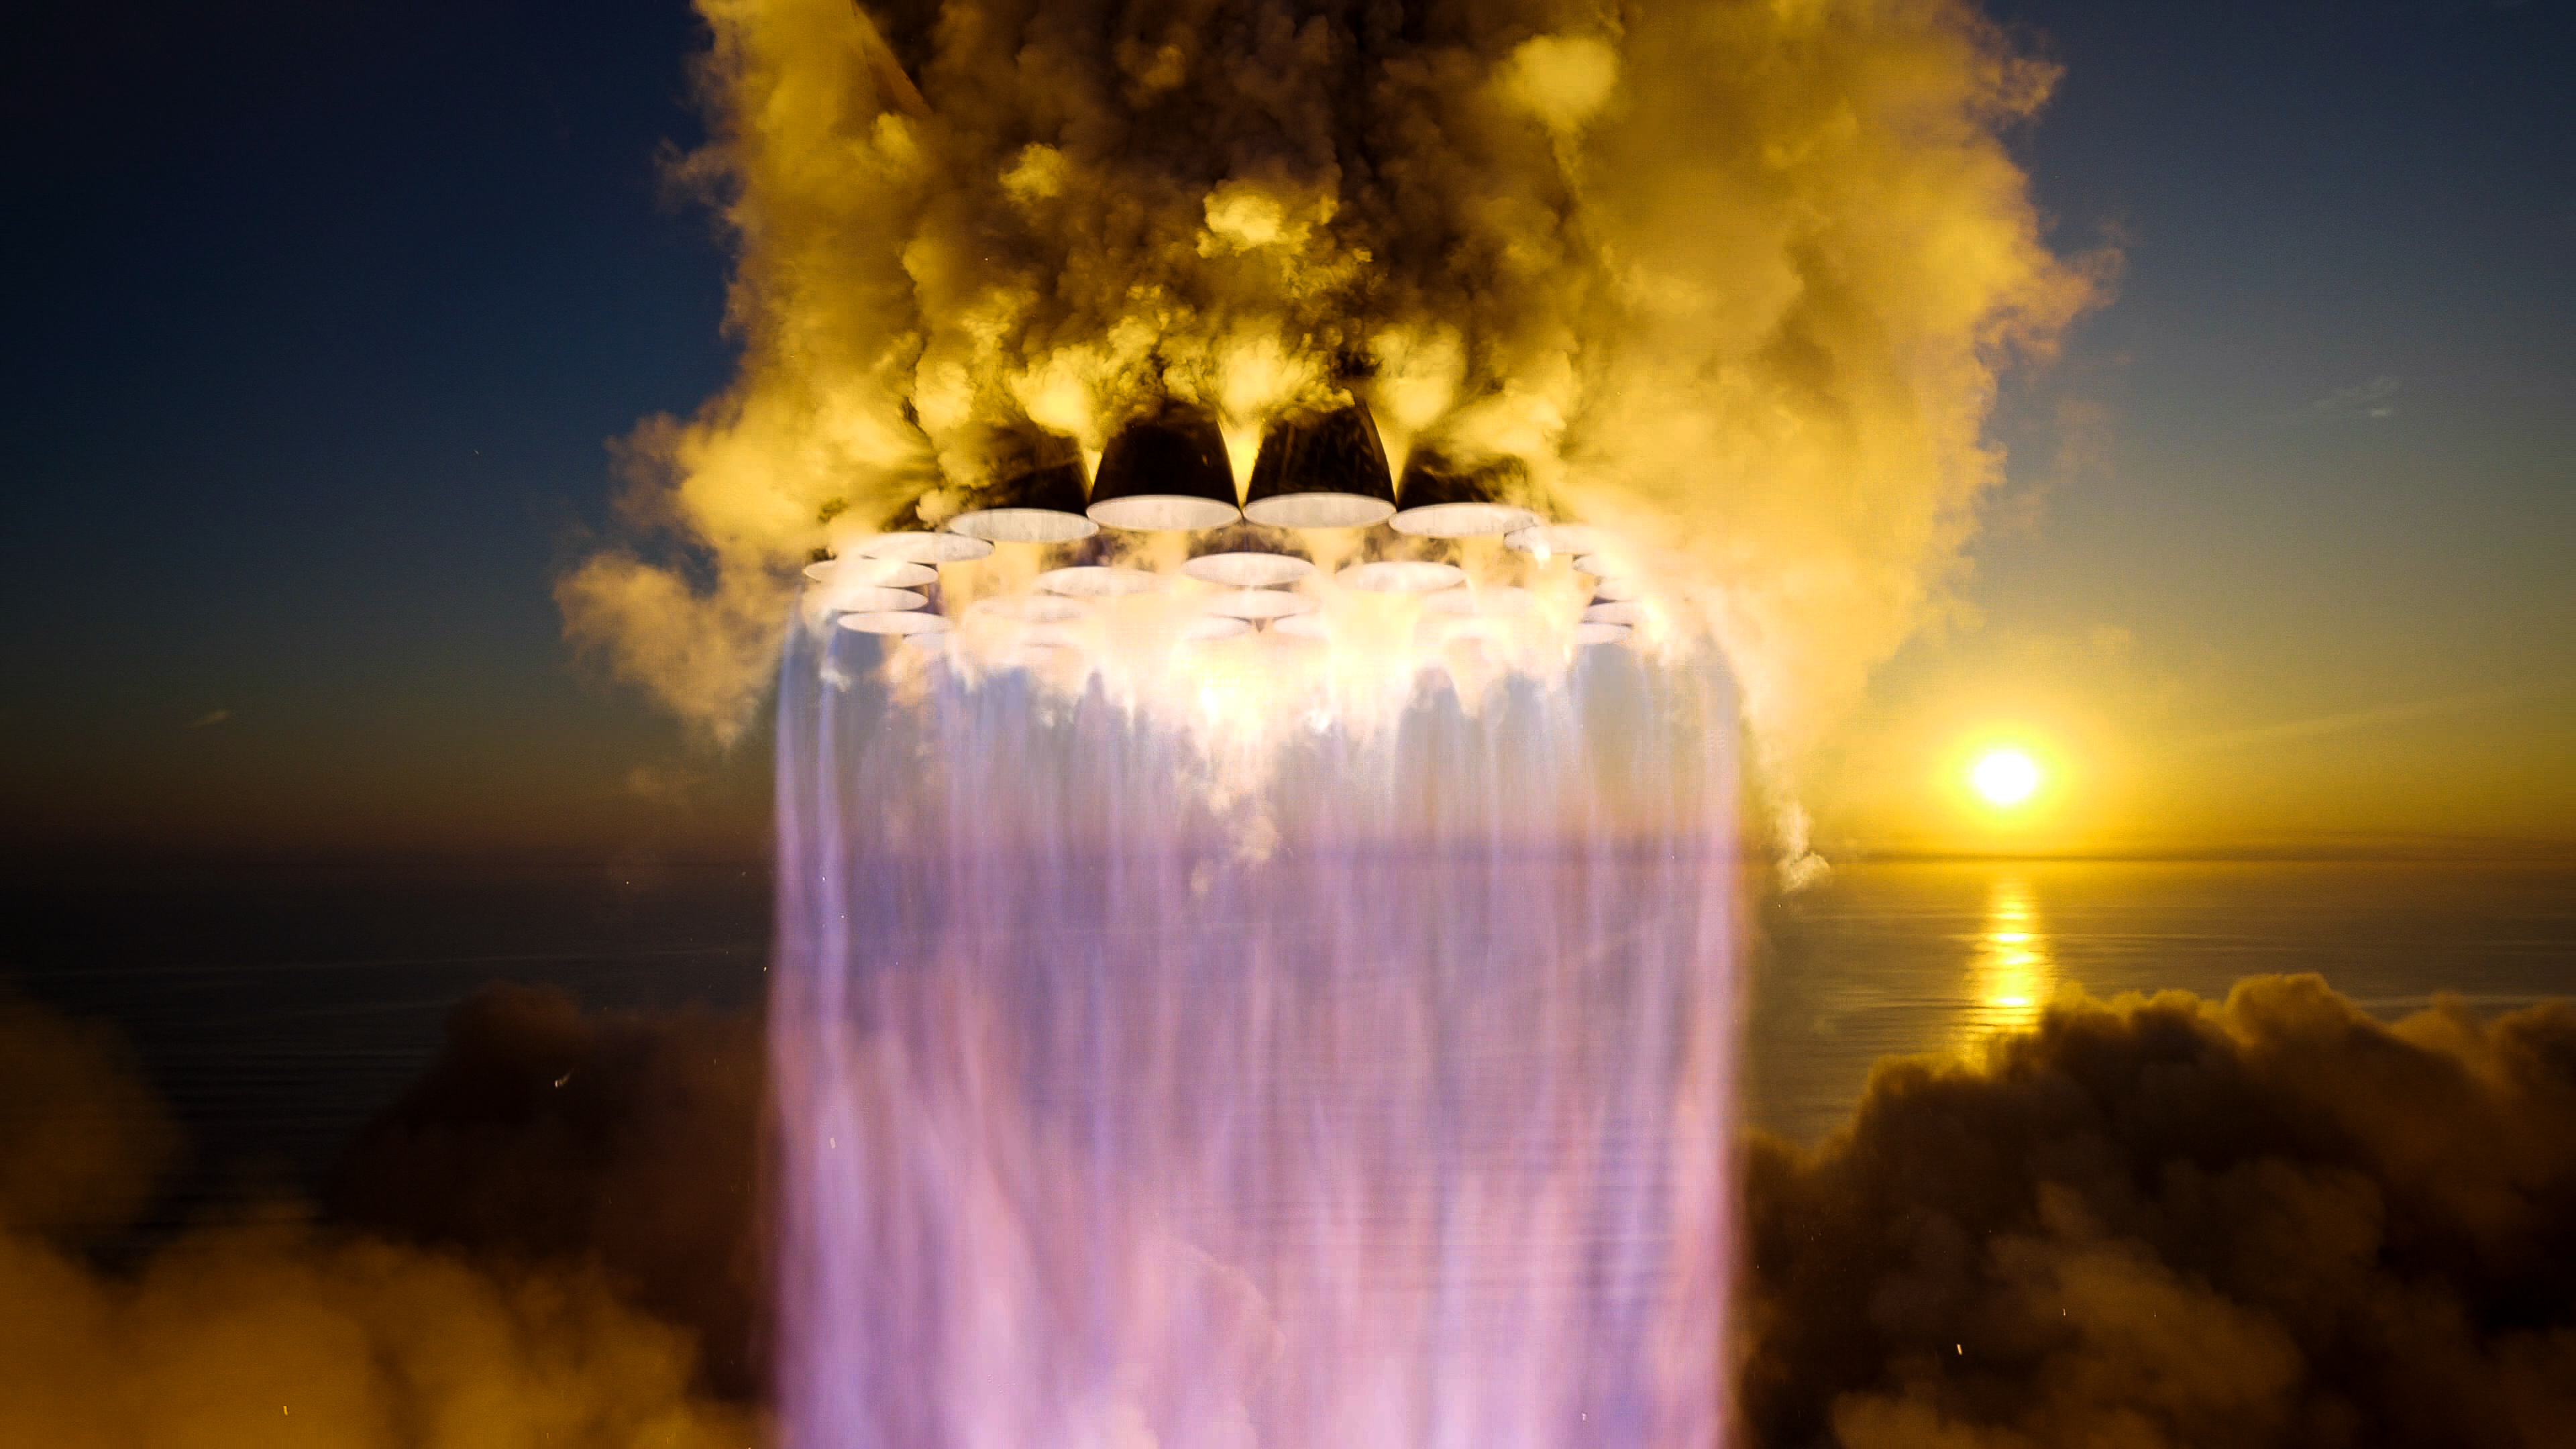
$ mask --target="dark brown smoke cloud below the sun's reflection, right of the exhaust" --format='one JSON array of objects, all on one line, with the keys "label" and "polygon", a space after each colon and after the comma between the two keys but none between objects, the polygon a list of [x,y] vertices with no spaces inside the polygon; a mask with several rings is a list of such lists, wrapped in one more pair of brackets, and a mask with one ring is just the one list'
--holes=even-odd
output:
[{"label": "dark brown smoke cloud below the sun's reflection, right of the exhaust", "polygon": [[1744,1194],[1754,1444],[2576,1444],[2568,1003],[2071,1000]]}]

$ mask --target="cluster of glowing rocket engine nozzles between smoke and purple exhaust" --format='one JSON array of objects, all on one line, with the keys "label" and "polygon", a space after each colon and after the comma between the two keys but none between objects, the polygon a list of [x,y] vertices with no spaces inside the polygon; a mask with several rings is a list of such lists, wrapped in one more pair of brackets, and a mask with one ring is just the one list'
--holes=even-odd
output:
[{"label": "cluster of glowing rocket engine nozzles between smoke and purple exhaust", "polygon": [[[1412,603],[1406,627],[1435,650],[1628,639],[1649,614],[1623,549],[1512,503],[1522,492],[1517,462],[1453,467],[1427,446],[1399,480],[1358,402],[1273,425],[1242,490],[1216,418],[1195,407],[1128,423],[1090,482],[1072,438],[1020,428],[997,433],[989,482],[938,531],[840,534],[832,557],[806,567],[809,608],[1005,668],[1079,655],[1097,637],[1084,621],[1146,596],[1157,606],[1123,621],[1167,645],[1329,642],[1347,614],[1334,601],[1388,596]],[[1182,547],[1146,547],[1154,536]],[[992,559],[997,544],[1051,567],[943,575]],[[1136,567],[1157,554],[1180,554],[1177,578]]]}]

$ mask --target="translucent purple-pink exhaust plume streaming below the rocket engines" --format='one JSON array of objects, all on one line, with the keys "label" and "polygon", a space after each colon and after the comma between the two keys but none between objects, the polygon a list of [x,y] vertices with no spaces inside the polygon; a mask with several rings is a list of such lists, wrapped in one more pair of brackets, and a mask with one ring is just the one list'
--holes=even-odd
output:
[{"label": "translucent purple-pink exhaust plume streaming below the rocket engines", "polygon": [[791,634],[793,1449],[1718,1441],[1718,668],[1427,676],[1216,802],[1097,691]]}]

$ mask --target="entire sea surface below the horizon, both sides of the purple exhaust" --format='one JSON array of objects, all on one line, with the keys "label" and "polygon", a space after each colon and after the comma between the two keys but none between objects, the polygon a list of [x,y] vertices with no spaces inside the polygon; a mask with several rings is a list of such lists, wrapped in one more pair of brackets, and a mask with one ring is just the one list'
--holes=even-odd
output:
[{"label": "entire sea surface below the horizon, both sides of the purple exhaust", "polygon": [[[317,1181],[484,982],[757,1011],[744,866],[21,877],[0,987],[108,1018],[191,1137],[180,1212]],[[1976,1052],[2061,990],[2318,972],[2380,1016],[2576,995],[2576,866],[1862,864],[1747,920],[1747,1122],[1819,1142],[1888,1055]]]}]

